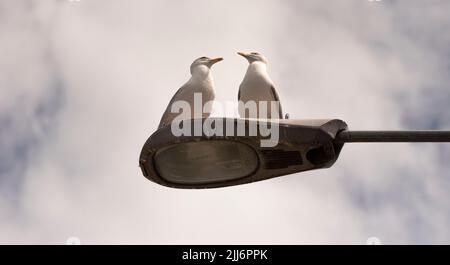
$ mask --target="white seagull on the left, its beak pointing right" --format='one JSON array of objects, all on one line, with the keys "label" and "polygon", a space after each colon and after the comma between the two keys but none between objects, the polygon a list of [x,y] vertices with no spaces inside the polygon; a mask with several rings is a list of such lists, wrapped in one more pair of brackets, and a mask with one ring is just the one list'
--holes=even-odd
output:
[{"label": "white seagull on the left, its beak pointing right", "polygon": [[210,113],[203,113],[201,111],[200,116],[194,112],[194,93],[202,94],[202,108],[208,101],[213,101],[214,94],[214,81],[211,74],[211,66],[213,64],[222,61],[223,58],[208,58],[200,57],[191,64],[191,78],[184,84],[170,100],[169,105],[164,112],[158,128],[165,127],[172,123],[179,113],[172,113],[172,104],[176,101],[186,101],[191,107],[191,118],[208,118]]}]

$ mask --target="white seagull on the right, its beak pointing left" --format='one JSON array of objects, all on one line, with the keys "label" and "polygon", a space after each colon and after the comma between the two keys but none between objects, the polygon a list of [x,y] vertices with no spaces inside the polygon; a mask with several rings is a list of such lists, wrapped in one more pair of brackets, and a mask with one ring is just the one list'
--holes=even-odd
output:
[{"label": "white seagull on the right, its beak pointing left", "polygon": [[[255,101],[257,104],[258,116],[255,117],[253,113],[245,113],[245,108],[242,104],[239,104],[239,116],[242,118],[275,118],[283,119],[283,112],[281,109],[280,98],[278,93],[273,86],[273,82],[267,73],[267,59],[262,54],[257,52],[244,53],[238,52],[239,55],[243,56],[249,62],[247,68],[247,73],[239,86],[238,100],[242,101],[244,104],[248,101]],[[262,117],[259,113],[259,102],[267,101],[267,116]],[[271,115],[270,101],[278,101],[279,110],[276,117]]]}]

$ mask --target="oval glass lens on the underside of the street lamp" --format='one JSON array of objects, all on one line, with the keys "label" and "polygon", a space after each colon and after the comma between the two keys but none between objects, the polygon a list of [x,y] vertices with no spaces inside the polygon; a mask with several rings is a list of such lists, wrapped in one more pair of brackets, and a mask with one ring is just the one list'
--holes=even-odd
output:
[{"label": "oval glass lens on the underside of the street lamp", "polygon": [[179,184],[205,184],[234,180],[258,168],[256,152],[234,141],[199,141],[174,144],[157,151],[159,175]]}]

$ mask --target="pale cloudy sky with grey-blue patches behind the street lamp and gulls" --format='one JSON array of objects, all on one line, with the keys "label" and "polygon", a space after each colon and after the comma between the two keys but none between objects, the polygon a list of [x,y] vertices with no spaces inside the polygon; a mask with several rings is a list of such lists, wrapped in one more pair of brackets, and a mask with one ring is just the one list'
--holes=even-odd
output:
[{"label": "pale cloudy sky with grey-blue patches behind the street lamp and gulls", "polygon": [[139,153],[201,56],[234,100],[257,51],[293,119],[449,129],[446,0],[0,2],[0,244],[450,243],[450,145],[347,144],[330,169],[159,186]]}]

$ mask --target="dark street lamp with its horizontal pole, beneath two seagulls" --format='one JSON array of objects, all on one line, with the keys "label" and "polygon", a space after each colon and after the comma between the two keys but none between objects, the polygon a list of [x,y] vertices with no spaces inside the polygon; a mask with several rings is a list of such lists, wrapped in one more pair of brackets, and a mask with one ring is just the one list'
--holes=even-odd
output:
[{"label": "dark street lamp with its horizontal pole, beneath two seagulls", "polygon": [[223,133],[214,135],[195,133],[205,119],[183,121],[190,133],[182,136],[175,136],[170,125],[158,129],[141,151],[144,176],[174,188],[226,187],[331,167],[344,143],[450,142],[450,131],[349,131],[338,119],[270,120],[278,129],[277,144],[264,147],[267,135],[250,132],[268,120],[220,120]]}]

